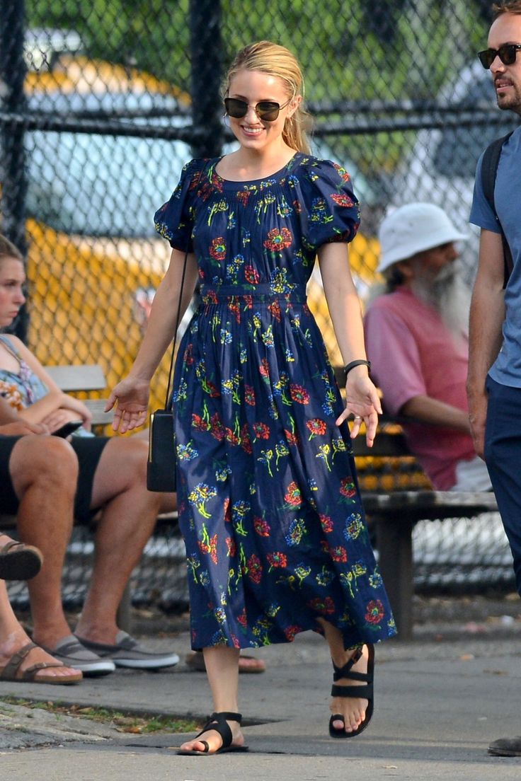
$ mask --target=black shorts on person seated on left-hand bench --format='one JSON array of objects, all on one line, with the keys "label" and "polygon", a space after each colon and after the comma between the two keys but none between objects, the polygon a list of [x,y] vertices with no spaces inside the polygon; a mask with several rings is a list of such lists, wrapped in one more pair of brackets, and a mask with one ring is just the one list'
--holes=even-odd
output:
[{"label": "black shorts on person seated on left-hand bench", "polygon": [[[9,474],[12,448],[21,437],[0,436],[0,512],[14,515],[18,510],[18,498]],[[78,458],[80,473],[74,497],[74,519],[80,523],[91,520],[96,508],[91,510],[92,483],[103,448],[109,437],[72,437],[71,445]]]}]

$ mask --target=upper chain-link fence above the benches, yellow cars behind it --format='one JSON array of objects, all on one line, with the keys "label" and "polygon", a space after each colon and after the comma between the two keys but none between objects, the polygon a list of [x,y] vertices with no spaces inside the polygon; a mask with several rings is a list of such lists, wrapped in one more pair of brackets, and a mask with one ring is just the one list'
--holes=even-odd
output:
[{"label": "upper chain-link fence above the benches, yellow cars behind it", "polygon": [[[152,217],[192,156],[234,140],[219,84],[268,38],[305,71],[313,152],[352,176],[362,226],[351,268],[366,298],[389,205],[442,205],[467,225],[476,160],[512,127],[485,48],[488,0],[3,0],[0,230],[27,255],[16,332],[42,363],[100,363],[109,387],[137,352],[170,251]],[[473,279],[477,236],[463,255]],[[334,364],[318,278],[309,298]],[[162,404],[167,361],[153,385]],[[484,545],[480,556],[487,555]],[[434,556],[435,558],[435,556]],[[479,562],[478,562],[479,563]]]}]

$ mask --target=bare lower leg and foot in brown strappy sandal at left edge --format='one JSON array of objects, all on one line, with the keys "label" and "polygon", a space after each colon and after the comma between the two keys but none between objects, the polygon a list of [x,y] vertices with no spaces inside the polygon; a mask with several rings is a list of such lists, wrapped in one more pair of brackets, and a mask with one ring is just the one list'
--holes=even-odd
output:
[{"label": "bare lower leg and foot in brown strappy sandal at left edge", "polygon": [[[5,581],[0,580],[0,667],[4,668],[12,655],[20,651],[27,643],[30,643],[30,639],[16,620],[16,615],[12,612],[7,589],[5,588]],[[33,648],[23,659],[20,669],[26,670],[38,662],[52,664],[56,660],[42,648]],[[53,678],[70,676],[77,672],[79,670],[74,670],[70,667],[51,667],[37,672],[37,678],[49,679],[49,682],[52,683]]]}]

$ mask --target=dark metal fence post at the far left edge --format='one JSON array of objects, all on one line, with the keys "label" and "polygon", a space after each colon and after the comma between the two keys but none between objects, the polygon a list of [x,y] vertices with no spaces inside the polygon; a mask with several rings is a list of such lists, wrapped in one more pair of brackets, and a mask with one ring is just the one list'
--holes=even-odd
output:
[{"label": "dark metal fence post at the far left edge", "polygon": [[[13,121],[26,109],[23,81],[26,74],[23,59],[25,30],[24,0],[3,0],[0,5],[0,182],[2,182],[2,233],[25,256],[25,173],[24,127]],[[28,315],[24,307],[16,321],[16,334],[27,335]]]}]

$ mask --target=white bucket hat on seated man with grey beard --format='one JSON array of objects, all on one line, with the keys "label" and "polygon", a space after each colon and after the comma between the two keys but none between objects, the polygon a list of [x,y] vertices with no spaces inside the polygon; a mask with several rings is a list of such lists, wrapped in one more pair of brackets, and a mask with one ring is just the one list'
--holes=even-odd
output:
[{"label": "white bucket hat on seated man with grey beard", "polygon": [[468,234],[456,230],[439,206],[432,203],[399,206],[387,214],[380,225],[380,263],[376,270],[385,271],[399,260],[412,258],[416,252],[467,238]]}]

